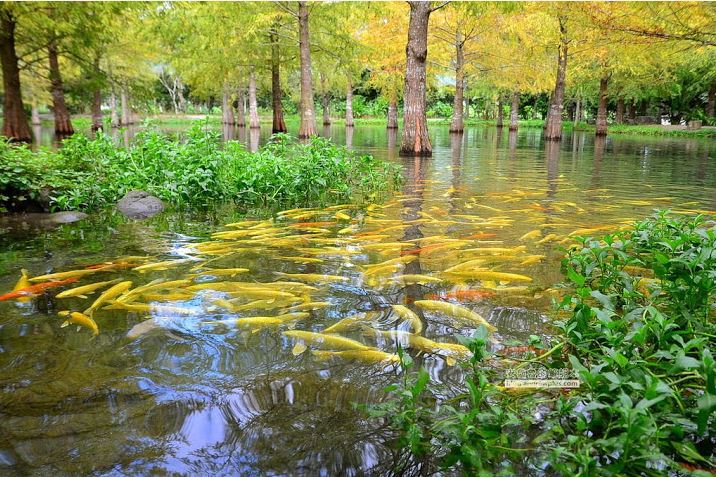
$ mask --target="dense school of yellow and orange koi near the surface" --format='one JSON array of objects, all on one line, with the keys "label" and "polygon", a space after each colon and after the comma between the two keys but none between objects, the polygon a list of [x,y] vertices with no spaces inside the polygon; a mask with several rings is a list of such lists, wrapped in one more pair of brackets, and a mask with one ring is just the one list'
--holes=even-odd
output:
[{"label": "dense school of yellow and orange koi near the surface", "polygon": [[[433,339],[437,327],[465,336],[485,327],[497,339],[500,329],[484,313],[491,302],[530,308],[555,297],[552,284],[534,280],[530,270],[577,236],[632,221],[590,225],[557,215],[545,221],[534,199],[540,195],[543,190],[489,194],[491,205],[472,197],[462,206],[470,213],[462,214],[423,210],[411,204],[413,196],[400,194],[381,205],[284,210],[226,224],[182,255],[123,256],[36,276],[23,269],[0,301],[53,297],[58,326],[76,325],[90,338],[113,313],[126,313],[143,318],[127,330],[130,340],[191,322],[206,333],[276,333],[293,355],[310,351],[306,356],[319,361],[395,363],[400,345],[453,365],[468,359],[469,350],[444,332]],[[524,207],[515,209],[516,203]],[[586,214],[576,203],[551,207]],[[391,218],[396,210],[399,218]],[[516,225],[520,233],[512,232]],[[257,269],[250,260],[257,255],[271,257],[270,264]],[[336,293],[353,294],[360,306],[341,309]],[[366,298],[375,296],[380,300]]]}]

